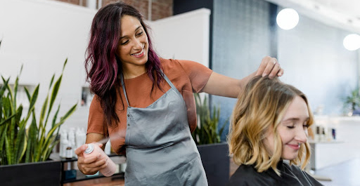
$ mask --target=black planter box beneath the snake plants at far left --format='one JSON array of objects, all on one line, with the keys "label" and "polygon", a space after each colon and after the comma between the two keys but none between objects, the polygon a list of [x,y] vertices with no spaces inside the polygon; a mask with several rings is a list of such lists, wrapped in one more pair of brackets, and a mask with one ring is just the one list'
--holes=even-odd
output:
[{"label": "black planter box beneath the snake plants at far left", "polygon": [[61,162],[41,161],[37,163],[0,166],[1,185],[60,185]]}]

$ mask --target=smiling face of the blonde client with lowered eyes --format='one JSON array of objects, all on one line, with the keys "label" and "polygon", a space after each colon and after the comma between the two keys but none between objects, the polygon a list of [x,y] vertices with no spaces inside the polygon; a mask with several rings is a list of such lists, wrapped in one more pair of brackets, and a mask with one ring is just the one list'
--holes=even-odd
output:
[{"label": "smiling face of the blonde client with lowered eyes", "polygon": [[[300,96],[296,96],[286,110],[281,124],[276,128],[283,143],[282,159],[295,159],[299,153],[300,145],[307,142],[308,119],[309,111],[307,109],[307,103]],[[267,150],[273,154],[273,132],[269,132],[269,135],[267,135],[264,140],[264,144]]]}]

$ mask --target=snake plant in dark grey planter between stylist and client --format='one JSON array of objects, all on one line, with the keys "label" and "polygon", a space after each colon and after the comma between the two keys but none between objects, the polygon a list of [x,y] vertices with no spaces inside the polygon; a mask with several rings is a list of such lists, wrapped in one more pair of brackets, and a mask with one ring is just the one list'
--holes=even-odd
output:
[{"label": "snake plant in dark grey planter between stylist and client", "polygon": [[225,124],[219,128],[219,107],[214,105],[210,110],[206,96],[203,101],[198,93],[195,93],[194,96],[198,126],[192,134],[193,140],[198,145],[209,185],[222,186],[229,181],[230,166],[229,147],[220,140]]}]

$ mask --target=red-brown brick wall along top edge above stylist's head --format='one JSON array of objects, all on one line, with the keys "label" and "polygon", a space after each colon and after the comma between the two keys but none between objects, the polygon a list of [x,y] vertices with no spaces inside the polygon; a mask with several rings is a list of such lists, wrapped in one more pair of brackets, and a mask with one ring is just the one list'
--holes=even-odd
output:
[{"label": "red-brown brick wall along top edge above stylist's head", "polygon": [[[86,6],[86,0],[56,0],[79,6]],[[149,0],[122,0],[124,3],[130,4],[137,8],[148,20],[148,4]],[[151,0],[151,20],[167,18],[173,15],[172,6],[174,0]],[[116,2],[116,0],[103,0],[103,6]]]}]

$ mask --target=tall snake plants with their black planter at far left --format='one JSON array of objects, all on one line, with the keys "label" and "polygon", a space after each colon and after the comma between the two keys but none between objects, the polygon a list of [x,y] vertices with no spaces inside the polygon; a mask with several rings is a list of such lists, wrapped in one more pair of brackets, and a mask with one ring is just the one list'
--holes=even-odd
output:
[{"label": "tall snake plants with their black planter at far left", "polygon": [[[64,62],[63,70],[67,61]],[[60,105],[55,114],[51,114],[63,78],[62,71],[54,84],[55,74],[51,78],[39,118],[35,114],[39,84],[32,94],[24,87],[30,106],[23,115],[23,105],[18,105],[16,100],[22,69],[23,67],[13,86],[8,83],[10,77],[5,79],[1,76],[3,82],[0,85],[0,182],[4,185],[59,185],[60,161],[46,160],[58,143],[56,136],[60,126],[75,112],[77,104],[63,117],[58,118]],[[47,125],[51,125],[50,130],[46,130]]]}]

